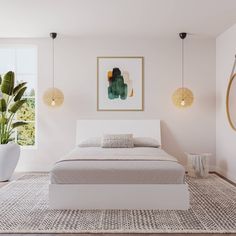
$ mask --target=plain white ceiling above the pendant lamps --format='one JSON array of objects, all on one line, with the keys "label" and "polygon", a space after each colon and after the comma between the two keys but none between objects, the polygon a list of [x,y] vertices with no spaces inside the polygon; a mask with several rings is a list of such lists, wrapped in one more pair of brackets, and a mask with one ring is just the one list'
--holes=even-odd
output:
[{"label": "plain white ceiling above the pendant lamps", "polygon": [[236,0],[0,0],[0,37],[216,37],[236,23]]}]

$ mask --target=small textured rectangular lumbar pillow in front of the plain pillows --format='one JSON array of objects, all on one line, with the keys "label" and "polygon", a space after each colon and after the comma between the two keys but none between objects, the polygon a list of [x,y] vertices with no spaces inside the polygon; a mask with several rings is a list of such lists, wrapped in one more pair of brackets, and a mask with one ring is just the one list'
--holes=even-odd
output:
[{"label": "small textured rectangular lumbar pillow in front of the plain pillows", "polygon": [[101,141],[103,148],[133,148],[133,134],[104,134]]}]

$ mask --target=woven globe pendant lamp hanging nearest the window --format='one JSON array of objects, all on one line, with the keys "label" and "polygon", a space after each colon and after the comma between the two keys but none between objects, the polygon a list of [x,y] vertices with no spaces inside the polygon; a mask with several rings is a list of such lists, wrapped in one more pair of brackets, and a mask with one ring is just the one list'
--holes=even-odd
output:
[{"label": "woven globe pendant lamp hanging nearest the window", "polygon": [[63,104],[64,95],[62,91],[55,87],[55,77],[54,77],[54,39],[57,37],[57,33],[50,33],[52,38],[52,87],[48,88],[43,95],[43,101],[46,105],[50,107],[59,107]]}]

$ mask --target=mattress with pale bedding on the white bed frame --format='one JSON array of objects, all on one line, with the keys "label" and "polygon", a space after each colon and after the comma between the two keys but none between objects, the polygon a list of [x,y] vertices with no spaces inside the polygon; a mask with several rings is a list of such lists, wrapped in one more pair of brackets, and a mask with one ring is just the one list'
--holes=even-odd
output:
[{"label": "mattress with pale bedding on the white bed frame", "polygon": [[184,167],[160,148],[75,148],[50,172],[51,184],[183,184]]}]

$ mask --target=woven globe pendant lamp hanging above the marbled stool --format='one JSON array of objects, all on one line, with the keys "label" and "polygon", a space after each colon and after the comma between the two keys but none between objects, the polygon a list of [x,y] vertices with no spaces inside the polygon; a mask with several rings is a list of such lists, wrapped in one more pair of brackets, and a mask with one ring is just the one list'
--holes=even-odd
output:
[{"label": "woven globe pendant lamp hanging above the marbled stool", "polygon": [[181,38],[181,87],[176,89],[172,95],[172,101],[178,108],[190,107],[193,103],[194,97],[190,89],[184,86],[184,39],[187,33],[183,32],[179,34]]}]

